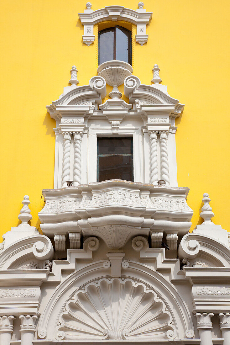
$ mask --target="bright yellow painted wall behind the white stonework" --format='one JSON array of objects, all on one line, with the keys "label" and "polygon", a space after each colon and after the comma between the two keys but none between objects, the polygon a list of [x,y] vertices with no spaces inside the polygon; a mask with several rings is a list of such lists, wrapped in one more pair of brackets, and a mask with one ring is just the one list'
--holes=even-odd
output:
[{"label": "bright yellow painted wall behind the white stonework", "polygon": [[[0,234],[18,224],[24,194],[31,225],[39,226],[41,190],[53,188],[55,121],[46,105],[68,85],[76,65],[79,85],[96,75],[96,44],[82,43],[78,12],[86,1],[1,2],[1,216]],[[93,0],[136,9],[138,0]],[[229,0],[145,0],[153,12],[149,41],[133,51],[133,74],[150,84],[154,63],[172,97],[185,103],[178,124],[178,185],[190,188],[192,228],[201,223],[208,192],[214,223],[230,231],[229,217]]]}]

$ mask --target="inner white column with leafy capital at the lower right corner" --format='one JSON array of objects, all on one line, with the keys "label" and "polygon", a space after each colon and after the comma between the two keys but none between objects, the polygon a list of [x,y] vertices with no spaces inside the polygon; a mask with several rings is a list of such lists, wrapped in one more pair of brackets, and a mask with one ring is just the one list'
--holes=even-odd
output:
[{"label": "inner white column with leafy capital at the lower right corner", "polygon": [[212,316],[213,313],[196,313],[200,345],[212,345]]}]

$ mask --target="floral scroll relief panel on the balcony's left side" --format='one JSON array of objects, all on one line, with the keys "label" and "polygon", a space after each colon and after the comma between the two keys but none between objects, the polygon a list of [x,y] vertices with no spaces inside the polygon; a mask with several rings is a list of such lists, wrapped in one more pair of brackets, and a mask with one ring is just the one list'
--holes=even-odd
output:
[{"label": "floral scroll relief panel on the balcony's left side", "polygon": [[79,198],[65,198],[61,200],[47,200],[45,207],[40,213],[59,213],[66,211],[74,211],[76,206],[80,204]]}]

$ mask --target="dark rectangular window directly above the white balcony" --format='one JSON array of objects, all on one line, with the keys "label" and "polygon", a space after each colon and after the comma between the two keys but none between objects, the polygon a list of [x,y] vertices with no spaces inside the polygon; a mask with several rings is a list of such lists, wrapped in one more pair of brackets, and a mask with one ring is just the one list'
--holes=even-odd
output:
[{"label": "dark rectangular window directly above the white balcony", "polygon": [[97,139],[97,180],[133,181],[133,139]]}]

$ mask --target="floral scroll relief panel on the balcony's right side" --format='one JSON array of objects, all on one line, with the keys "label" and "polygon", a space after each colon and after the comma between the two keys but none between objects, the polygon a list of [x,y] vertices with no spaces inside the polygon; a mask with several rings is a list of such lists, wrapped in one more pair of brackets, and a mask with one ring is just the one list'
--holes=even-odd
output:
[{"label": "floral scroll relief panel on the balcony's right side", "polygon": [[174,199],[166,197],[150,197],[150,202],[157,210],[167,211],[190,211],[186,199]]}]

